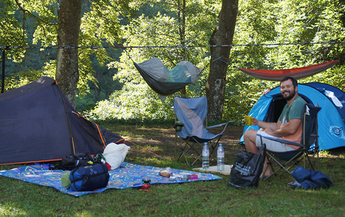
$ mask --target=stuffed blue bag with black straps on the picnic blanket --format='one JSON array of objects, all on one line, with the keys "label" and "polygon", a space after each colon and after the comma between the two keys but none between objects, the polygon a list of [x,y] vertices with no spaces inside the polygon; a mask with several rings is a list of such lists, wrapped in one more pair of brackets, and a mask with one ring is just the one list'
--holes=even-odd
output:
[{"label": "stuffed blue bag with black straps on the picnic blanket", "polygon": [[70,173],[71,189],[73,191],[93,191],[106,187],[109,181],[108,167],[105,164],[78,167]]}]

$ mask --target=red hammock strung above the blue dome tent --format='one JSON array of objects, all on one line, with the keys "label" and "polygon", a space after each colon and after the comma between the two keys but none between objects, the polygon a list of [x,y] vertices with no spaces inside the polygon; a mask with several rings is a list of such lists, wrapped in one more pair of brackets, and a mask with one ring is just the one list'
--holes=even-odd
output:
[{"label": "red hammock strung above the blue dome tent", "polygon": [[248,69],[248,68],[238,68],[239,70],[247,73],[254,78],[258,78],[266,81],[280,81],[284,77],[293,77],[295,79],[302,79],[315,75],[319,72],[326,70],[329,67],[337,64],[339,60],[334,60],[327,63],[322,63],[318,65],[313,65],[309,67],[301,68],[290,68],[290,69],[280,69],[280,70],[260,70],[260,69]]}]

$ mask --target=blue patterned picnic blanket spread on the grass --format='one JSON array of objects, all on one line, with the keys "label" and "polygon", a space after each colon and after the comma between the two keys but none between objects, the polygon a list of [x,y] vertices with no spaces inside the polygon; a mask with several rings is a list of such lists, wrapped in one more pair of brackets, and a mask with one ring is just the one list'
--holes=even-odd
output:
[{"label": "blue patterned picnic blanket spread on the grass", "polygon": [[193,173],[198,175],[198,179],[194,180],[181,180],[162,177],[159,171],[163,168],[150,167],[137,164],[123,162],[117,169],[109,171],[109,182],[105,188],[96,189],[94,191],[72,191],[70,188],[61,185],[61,175],[65,170],[50,170],[51,164],[34,164],[30,166],[13,168],[10,170],[1,170],[0,176],[18,179],[24,182],[43,185],[47,187],[54,187],[60,192],[79,197],[90,193],[100,193],[110,188],[125,189],[125,188],[138,188],[143,185],[143,179],[150,179],[150,184],[175,184],[187,183],[196,181],[210,181],[218,180],[220,177],[210,173],[191,172],[187,170],[171,169],[174,174]]}]

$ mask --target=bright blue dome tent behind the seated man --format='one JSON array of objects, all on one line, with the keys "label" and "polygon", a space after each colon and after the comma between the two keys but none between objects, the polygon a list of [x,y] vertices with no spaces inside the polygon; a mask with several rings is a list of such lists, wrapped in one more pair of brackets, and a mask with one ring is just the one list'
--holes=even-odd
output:
[{"label": "bright blue dome tent behind the seated man", "polygon": [[[321,107],[318,113],[320,150],[345,146],[345,93],[326,83],[299,83],[298,95]],[[278,86],[261,96],[248,115],[258,120],[276,122],[285,104],[286,100],[281,97]],[[258,130],[259,127],[245,125],[243,133],[248,129]],[[244,144],[243,135],[239,143]]]}]

